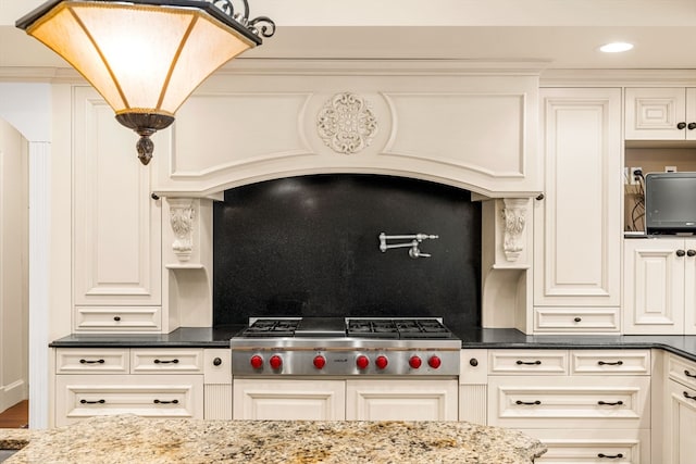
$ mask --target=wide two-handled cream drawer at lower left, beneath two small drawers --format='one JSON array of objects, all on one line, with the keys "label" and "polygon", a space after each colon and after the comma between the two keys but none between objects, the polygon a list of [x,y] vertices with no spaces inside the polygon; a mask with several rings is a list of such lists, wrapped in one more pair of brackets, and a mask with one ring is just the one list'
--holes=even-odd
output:
[{"label": "wide two-handled cream drawer at lower left, beneath two small drawers", "polygon": [[203,417],[203,376],[55,376],[55,425],[84,417],[136,414]]}]

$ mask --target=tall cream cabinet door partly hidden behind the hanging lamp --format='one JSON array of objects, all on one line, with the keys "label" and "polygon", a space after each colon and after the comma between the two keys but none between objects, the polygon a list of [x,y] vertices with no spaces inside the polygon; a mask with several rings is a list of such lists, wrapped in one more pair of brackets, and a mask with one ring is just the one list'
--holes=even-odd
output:
[{"label": "tall cream cabinet door partly hidden behind the hanging lamp", "polygon": [[87,87],[74,90],[74,303],[161,304],[161,205],[137,136]]}]

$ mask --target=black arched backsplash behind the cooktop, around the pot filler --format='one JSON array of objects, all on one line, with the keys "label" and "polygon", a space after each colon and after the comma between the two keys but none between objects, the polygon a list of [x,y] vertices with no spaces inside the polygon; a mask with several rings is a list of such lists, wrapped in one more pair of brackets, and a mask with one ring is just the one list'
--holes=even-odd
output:
[{"label": "black arched backsplash behind the cooktop, around the pot filler", "polygon": [[[380,233],[433,234],[378,249]],[[389,240],[389,243],[402,240]],[[225,191],[213,213],[213,325],[250,316],[433,316],[481,326],[481,204],[467,190],[312,175]]]}]

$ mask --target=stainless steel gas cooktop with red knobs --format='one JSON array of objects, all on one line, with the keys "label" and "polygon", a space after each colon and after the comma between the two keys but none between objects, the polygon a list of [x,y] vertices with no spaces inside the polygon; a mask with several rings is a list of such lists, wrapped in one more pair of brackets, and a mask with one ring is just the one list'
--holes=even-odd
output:
[{"label": "stainless steel gas cooktop with red knobs", "polygon": [[235,376],[455,376],[461,341],[432,317],[263,317],[231,348]]}]

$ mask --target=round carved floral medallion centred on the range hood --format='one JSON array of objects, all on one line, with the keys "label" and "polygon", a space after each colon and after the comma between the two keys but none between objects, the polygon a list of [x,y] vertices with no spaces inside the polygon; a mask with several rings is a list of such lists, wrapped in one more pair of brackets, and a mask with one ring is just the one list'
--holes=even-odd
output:
[{"label": "round carved floral medallion centred on the range hood", "polygon": [[370,146],[377,133],[377,118],[364,99],[337,93],[319,112],[316,130],[328,148],[351,154]]}]

